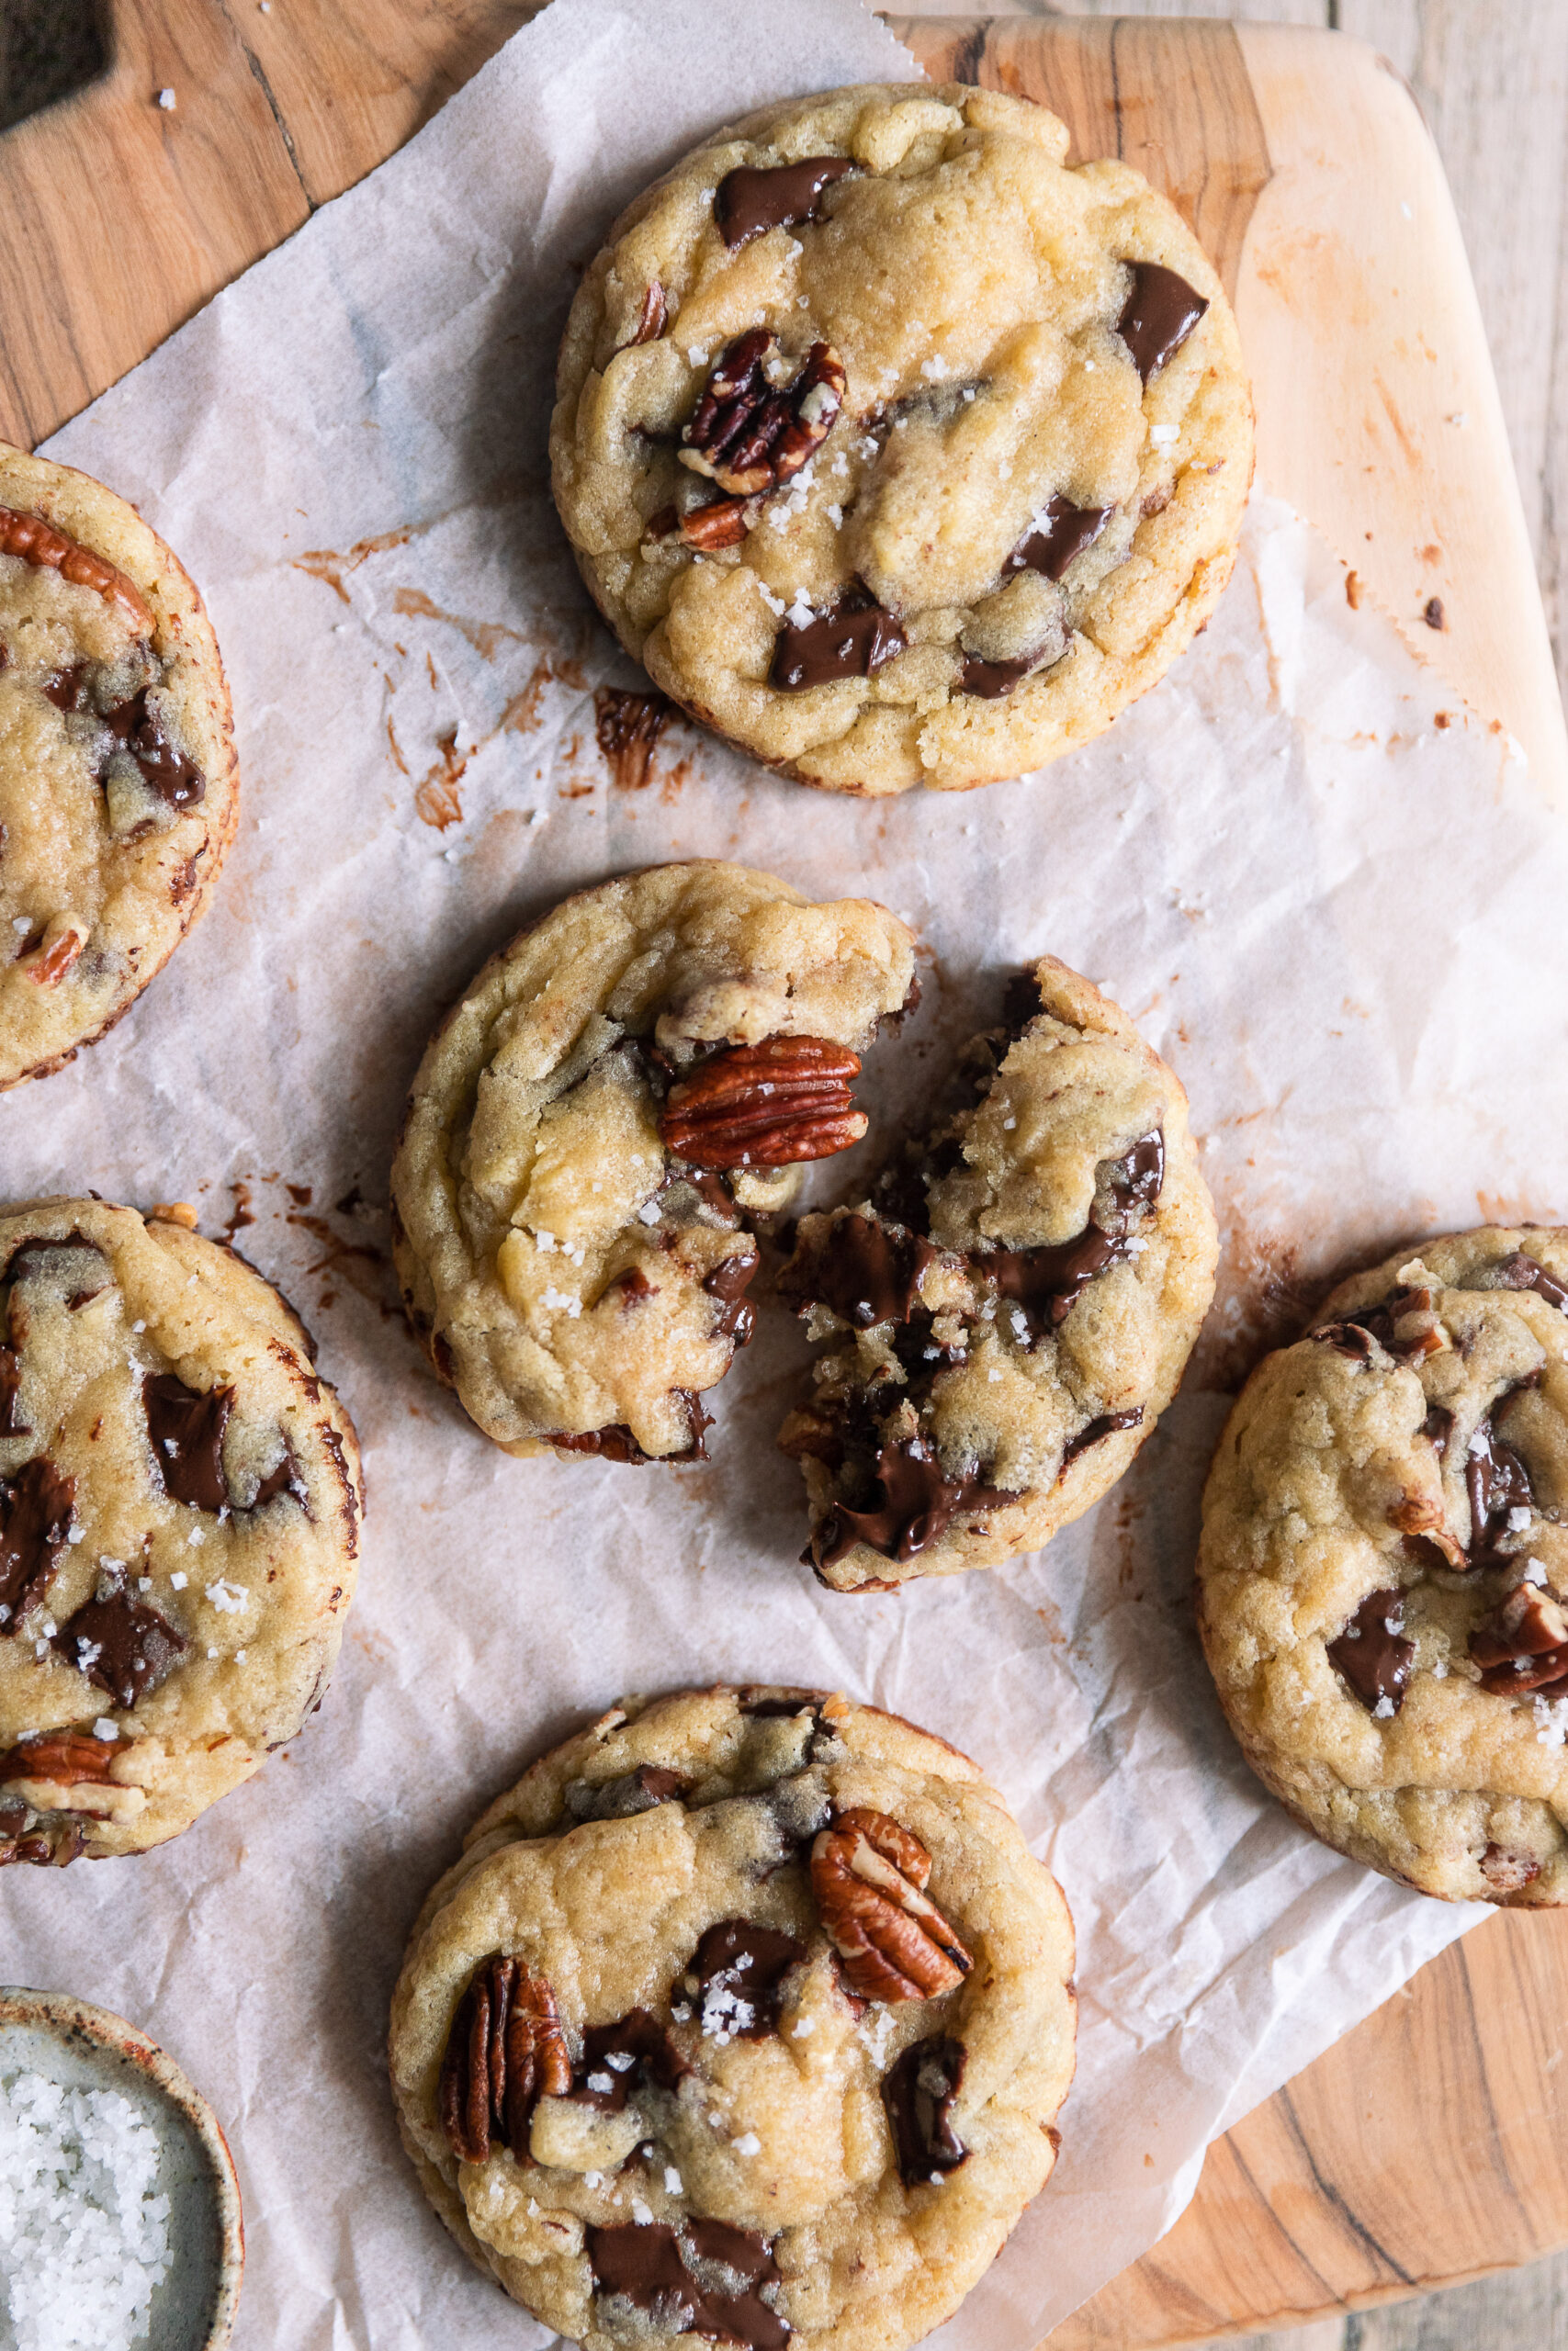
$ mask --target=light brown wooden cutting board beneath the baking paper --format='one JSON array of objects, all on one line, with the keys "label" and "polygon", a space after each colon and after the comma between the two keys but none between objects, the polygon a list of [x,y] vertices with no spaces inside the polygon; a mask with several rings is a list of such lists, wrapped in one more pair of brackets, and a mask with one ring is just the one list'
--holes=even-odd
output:
[{"label": "light brown wooden cutting board beneath the baking paper", "polygon": [[[113,63],[0,136],[0,435],[45,440],[393,153],[531,0],[113,0]],[[1333,33],[891,19],[936,80],[1124,155],[1232,289],[1260,480],[1347,595],[1528,752],[1568,741],[1460,230],[1415,103]],[[158,106],[172,89],[174,106]],[[1566,2022],[1559,2022],[1566,2020]],[[1192,2208],[1051,2337],[1140,2351],[1316,2318],[1568,2241],[1568,1914],[1505,1911],[1220,2139]]]}]

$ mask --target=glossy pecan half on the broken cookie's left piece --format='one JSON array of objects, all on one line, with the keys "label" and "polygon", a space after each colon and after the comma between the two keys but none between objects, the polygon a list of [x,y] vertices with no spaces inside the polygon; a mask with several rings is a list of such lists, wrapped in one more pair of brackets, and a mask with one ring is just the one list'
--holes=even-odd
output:
[{"label": "glossy pecan half on the broken cookie's left piece", "polygon": [[830,1037],[733,1044],[670,1086],[658,1136],[698,1168],[785,1168],[832,1159],[865,1133],[849,1096],[860,1056]]}]

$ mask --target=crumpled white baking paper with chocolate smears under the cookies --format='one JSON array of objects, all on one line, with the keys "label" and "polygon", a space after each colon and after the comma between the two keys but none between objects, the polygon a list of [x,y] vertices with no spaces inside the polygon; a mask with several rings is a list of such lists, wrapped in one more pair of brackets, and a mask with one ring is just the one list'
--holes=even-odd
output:
[{"label": "crumpled white baking paper with chocolate smears under the cookies", "polygon": [[[632,792],[595,748],[592,686],[637,677],[545,484],[576,270],[722,118],[910,71],[853,0],[555,0],[49,449],[202,583],[244,799],[212,912],[132,1018],[0,1098],[0,1192],[190,1199],[209,1232],[249,1201],[235,1237],[315,1326],[369,1469],[360,1599],[308,1730],[162,1853],[0,1881],[0,1972],[125,2012],[212,2097],[244,2189],[242,2351],[541,2342],[414,2184],[386,2005],[480,1806],[628,1688],[780,1679],[893,1707],[985,1763],[1067,1888],[1063,2163],[952,2351],[1037,2344],[1173,2222],[1215,2132],[1481,1916],[1265,1799],[1190,1587],[1248,1349],[1349,1260],[1568,1211],[1568,851],[1507,738],[1258,496],[1208,635],[1039,778],[856,804],[672,726]],[[1044,950],[1182,1074],[1220,1302],[1126,1481],[1048,1554],[820,1592],[771,1448],[806,1357],[780,1312],[715,1399],[708,1467],[508,1460],[423,1368],[386,1171],[435,1016],[562,891],[682,856],[867,891],[919,929],[924,1009],[865,1079],[882,1136]]]}]

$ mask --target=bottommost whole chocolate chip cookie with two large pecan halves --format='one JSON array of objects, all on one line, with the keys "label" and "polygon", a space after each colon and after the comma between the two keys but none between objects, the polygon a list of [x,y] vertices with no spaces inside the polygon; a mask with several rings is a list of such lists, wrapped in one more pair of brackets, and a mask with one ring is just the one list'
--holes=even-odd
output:
[{"label": "bottommost whole chocolate chip cookie with two large pecan halves", "polygon": [[458,2245],[590,2351],[898,2351],[1044,2186],[1072,1921],[957,1749],[813,1690],[625,1700],[470,1829],[393,1998]]}]

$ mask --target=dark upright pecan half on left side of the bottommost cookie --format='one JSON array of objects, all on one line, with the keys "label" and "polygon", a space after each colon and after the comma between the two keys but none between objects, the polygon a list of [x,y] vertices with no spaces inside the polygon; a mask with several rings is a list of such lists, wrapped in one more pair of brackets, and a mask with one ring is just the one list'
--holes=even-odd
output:
[{"label": "dark upright pecan half on left side of the bottommost cookie", "polygon": [[437,2088],[447,2146],[458,2163],[484,2163],[498,2142],[527,2163],[534,2106],[569,2090],[571,2057],[550,1984],[498,1951],[451,2020]]}]

